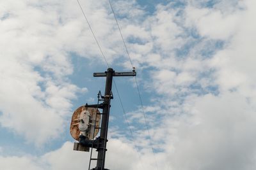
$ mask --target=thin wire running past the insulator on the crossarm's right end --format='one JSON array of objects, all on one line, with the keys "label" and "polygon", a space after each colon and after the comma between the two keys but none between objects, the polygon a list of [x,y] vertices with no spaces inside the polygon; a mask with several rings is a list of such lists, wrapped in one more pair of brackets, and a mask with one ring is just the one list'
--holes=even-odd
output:
[{"label": "thin wire running past the insulator on the crossarm's right end", "polygon": [[[110,1],[110,0],[108,0],[108,1],[109,1],[109,5],[110,5],[110,7],[111,7],[111,10],[112,10],[112,12],[113,12],[113,15],[114,15],[114,17],[115,17],[116,25],[117,25],[118,30],[119,30],[119,32],[120,32],[120,36],[121,36],[122,41],[123,41],[123,43],[124,43],[124,47],[125,47],[127,56],[128,56],[128,58],[129,58],[129,60],[130,60],[130,62],[131,62],[131,66],[132,66],[132,69],[133,69],[134,66],[132,65],[132,60],[131,60],[131,57],[130,57],[130,55],[129,55],[129,52],[128,52],[126,43],[125,43],[125,41],[124,41],[124,36],[123,36],[122,31],[121,31],[121,29],[120,29],[120,26],[119,26],[119,24],[118,24],[118,21],[117,21],[116,15],[115,15],[115,11],[113,10],[113,6],[112,6],[112,4],[111,4],[111,1]],[[144,119],[145,119],[145,124],[146,124],[146,127],[147,127],[148,137],[149,137],[149,139],[150,139],[150,146],[151,146],[151,148],[152,148],[152,152],[153,152],[153,155],[154,155],[154,160],[155,160],[155,163],[156,163],[156,169],[158,169],[157,161],[156,161],[156,153],[154,152],[154,148],[153,148],[153,145],[152,145],[152,139],[151,139],[151,136],[150,136],[150,133],[149,133],[148,121],[147,121],[147,117],[146,117],[146,114],[145,114],[144,106],[143,106],[143,103],[142,103],[141,93],[140,93],[140,89],[139,89],[139,86],[138,86],[138,81],[137,81],[136,76],[134,76],[134,78],[135,78],[136,87],[137,87],[138,94],[139,94],[139,98],[140,98],[140,104],[141,104],[141,108],[142,108],[142,111],[143,111],[143,117],[144,117]]]}]

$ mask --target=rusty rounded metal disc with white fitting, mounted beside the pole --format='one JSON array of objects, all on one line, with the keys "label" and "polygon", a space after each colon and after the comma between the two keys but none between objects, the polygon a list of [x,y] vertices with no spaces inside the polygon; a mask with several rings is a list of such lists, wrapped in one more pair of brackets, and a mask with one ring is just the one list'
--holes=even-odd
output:
[{"label": "rusty rounded metal disc with white fitting, mounted beside the pole", "polygon": [[86,136],[87,139],[93,139],[97,136],[101,118],[99,113],[100,111],[97,108],[87,108],[85,106],[77,108],[72,115],[70,124],[72,138],[79,141],[80,135]]}]

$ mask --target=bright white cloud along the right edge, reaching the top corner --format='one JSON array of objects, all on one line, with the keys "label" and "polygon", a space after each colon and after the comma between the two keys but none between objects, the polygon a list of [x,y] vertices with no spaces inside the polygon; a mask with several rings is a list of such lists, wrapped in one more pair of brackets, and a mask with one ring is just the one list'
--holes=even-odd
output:
[{"label": "bright white cloud along the right edge, reaching the top corner", "polygon": [[[236,89],[242,90],[246,96],[254,93],[253,86],[255,82],[255,48],[253,42],[256,39],[256,25],[253,22],[255,11],[253,1],[246,1],[246,12],[243,13],[237,28],[237,34],[232,39],[230,45],[217,53],[212,64],[218,67],[218,83],[223,90]],[[229,81],[225,81],[225,80]]]}]

